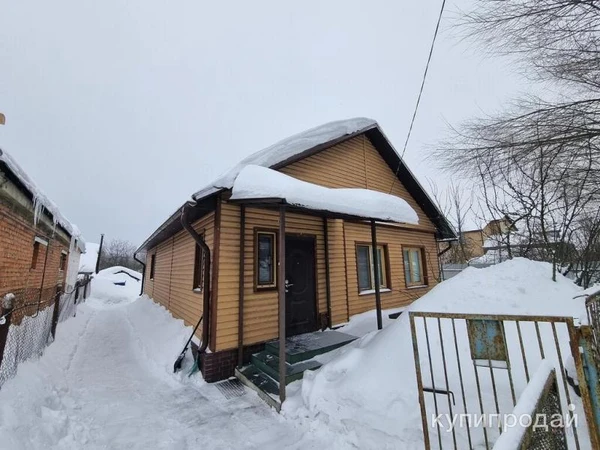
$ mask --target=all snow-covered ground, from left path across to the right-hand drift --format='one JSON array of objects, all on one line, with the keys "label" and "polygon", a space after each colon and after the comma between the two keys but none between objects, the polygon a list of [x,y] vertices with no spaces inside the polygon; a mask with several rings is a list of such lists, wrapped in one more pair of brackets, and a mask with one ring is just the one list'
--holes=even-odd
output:
[{"label": "all snow-covered ground, from left path across to the right-hand drift", "polygon": [[[374,312],[353,317],[342,331],[364,336],[290,385],[277,415],[253,391],[227,399],[198,374],[188,377],[189,354],[173,374],[191,328],[138,298],[139,282],[120,270],[101,271],[44,355],[4,384],[0,449],[423,448],[406,312],[389,320],[386,311],[379,332],[370,332]],[[573,298],[583,291],[549,277],[549,265],[524,259],[469,268],[408,310],[583,317],[583,297]]]}]

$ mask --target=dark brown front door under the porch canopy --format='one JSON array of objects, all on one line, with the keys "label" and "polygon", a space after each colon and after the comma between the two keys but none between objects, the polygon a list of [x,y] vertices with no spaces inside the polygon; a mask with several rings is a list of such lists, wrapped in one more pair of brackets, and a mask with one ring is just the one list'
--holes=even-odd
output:
[{"label": "dark brown front door under the porch canopy", "polygon": [[286,336],[317,329],[315,238],[285,237]]}]

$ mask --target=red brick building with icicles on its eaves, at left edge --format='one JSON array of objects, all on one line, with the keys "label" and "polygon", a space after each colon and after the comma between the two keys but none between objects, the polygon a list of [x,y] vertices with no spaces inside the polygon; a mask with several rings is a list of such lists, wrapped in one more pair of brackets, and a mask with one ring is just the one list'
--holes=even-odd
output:
[{"label": "red brick building with icicles on its eaves, at left edge", "polygon": [[15,295],[13,325],[74,286],[85,250],[79,231],[2,150],[0,243],[0,299]]}]

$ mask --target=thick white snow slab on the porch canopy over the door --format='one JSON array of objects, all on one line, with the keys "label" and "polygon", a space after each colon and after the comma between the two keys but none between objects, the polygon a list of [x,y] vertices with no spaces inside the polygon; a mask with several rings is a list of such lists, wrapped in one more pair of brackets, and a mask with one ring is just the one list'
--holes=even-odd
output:
[{"label": "thick white snow slab on the porch canopy over the door", "polygon": [[326,188],[266,167],[244,167],[233,183],[233,200],[280,198],[290,205],[417,225],[419,218],[400,197],[355,188]]}]

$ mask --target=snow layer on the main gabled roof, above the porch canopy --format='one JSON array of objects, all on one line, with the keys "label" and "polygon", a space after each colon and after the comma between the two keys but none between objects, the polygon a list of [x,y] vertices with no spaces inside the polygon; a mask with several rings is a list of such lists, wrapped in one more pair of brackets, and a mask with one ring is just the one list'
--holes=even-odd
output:
[{"label": "snow layer on the main gabled roof, above the porch canopy", "polygon": [[289,158],[292,158],[306,150],[310,150],[317,145],[330,142],[348,134],[360,130],[371,128],[377,125],[373,119],[357,117],[354,119],[338,120],[320,125],[302,133],[295,134],[276,144],[271,145],[259,152],[256,152],[243,159],[235,167],[214,180],[212,183],[200,189],[192,197],[194,200],[200,200],[221,189],[231,189],[233,182],[240,171],[248,166],[273,167]]}]

